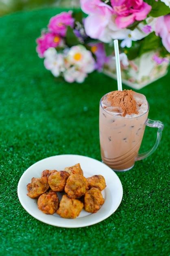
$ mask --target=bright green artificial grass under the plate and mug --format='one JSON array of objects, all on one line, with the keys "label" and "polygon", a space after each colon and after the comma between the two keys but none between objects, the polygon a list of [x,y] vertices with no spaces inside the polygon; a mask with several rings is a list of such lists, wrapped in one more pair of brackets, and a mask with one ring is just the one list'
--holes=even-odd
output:
[{"label": "bright green artificial grass under the plate and mug", "polygon": [[[69,84],[44,68],[35,39],[60,11],[0,18],[0,255],[167,256],[170,73],[139,91],[150,103],[149,118],[163,121],[165,128],[152,156],[117,173],[124,194],[113,215],[91,227],[53,227],[30,216],[17,198],[22,173],[40,159],[80,154],[100,160],[99,100],[116,90],[116,81],[94,72],[82,84]],[[156,129],[146,128],[141,151],[155,138]]]}]

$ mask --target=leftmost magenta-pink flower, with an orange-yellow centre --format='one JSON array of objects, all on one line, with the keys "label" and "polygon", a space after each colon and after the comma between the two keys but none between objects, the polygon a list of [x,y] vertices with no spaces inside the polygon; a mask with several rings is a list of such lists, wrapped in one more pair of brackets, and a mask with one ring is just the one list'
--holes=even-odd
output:
[{"label": "leftmost magenta-pink flower, with an orange-yellow centre", "polygon": [[61,37],[54,33],[46,33],[37,38],[36,51],[39,58],[44,57],[44,52],[50,47],[57,47],[61,43]]}]

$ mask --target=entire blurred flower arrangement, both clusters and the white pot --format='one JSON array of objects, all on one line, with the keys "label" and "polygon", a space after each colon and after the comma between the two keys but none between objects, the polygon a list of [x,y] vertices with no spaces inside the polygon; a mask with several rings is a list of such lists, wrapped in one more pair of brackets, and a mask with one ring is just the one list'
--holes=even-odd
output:
[{"label": "entire blurred flower arrangement, both clusters and the white pot", "polygon": [[[82,12],[52,17],[37,38],[46,69],[68,82],[84,81],[94,70],[116,78],[113,39],[120,44],[122,80],[141,88],[167,72],[170,1],[81,0]],[[169,6],[168,6],[169,5]]]}]

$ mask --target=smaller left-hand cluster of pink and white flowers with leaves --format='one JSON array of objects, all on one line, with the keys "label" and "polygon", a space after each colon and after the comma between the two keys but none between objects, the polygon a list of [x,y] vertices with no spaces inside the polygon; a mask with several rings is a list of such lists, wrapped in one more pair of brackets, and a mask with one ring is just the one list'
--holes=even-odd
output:
[{"label": "smaller left-hand cluster of pink and white flowers with leaves", "polygon": [[88,37],[82,22],[82,13],[62,12],[50,19],[48,29],[37,38],[36,50],[46,69],[69,83],[82,83],[96,68],[92,52],[85,47]]}]

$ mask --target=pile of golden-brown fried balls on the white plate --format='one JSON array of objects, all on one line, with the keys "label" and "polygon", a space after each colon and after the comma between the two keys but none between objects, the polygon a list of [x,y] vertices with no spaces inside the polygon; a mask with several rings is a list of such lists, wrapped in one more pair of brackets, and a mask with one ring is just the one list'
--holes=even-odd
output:
[{"label": "pile of golden-brown fried balls on the white plate", "polygon": [[[106,182],[102,175],[83,176],[80,164],[66,167],[64,171],[45,170],[41,178],[32,178],[27,185],[27,195],[38,199],[38,209],[46,214],[58,213],[62,218],[76,218],[81,210],[96,213],[105,200],[101,191]],[[61,201],[56,192],[65,192]]]}]

